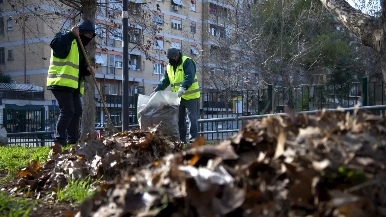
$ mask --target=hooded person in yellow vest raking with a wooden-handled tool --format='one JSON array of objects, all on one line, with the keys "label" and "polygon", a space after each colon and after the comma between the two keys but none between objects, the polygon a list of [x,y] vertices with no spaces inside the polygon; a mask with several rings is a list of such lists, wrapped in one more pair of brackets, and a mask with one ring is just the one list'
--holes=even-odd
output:
[{"label": "hooded person in yellow vest raking with a wooden-handled tool", "polygon": [[52,39],[51,59],[47,75],[47,90],[58,100],[59,118],[56,122],[54,142],[65,145],[75,144],[79,139],[80,117],[84,79],[94,74],[88,68],[78,35],[83,46],[95,37],[95,25],[90,20],[81,20],[71,31],[58,32]]}]

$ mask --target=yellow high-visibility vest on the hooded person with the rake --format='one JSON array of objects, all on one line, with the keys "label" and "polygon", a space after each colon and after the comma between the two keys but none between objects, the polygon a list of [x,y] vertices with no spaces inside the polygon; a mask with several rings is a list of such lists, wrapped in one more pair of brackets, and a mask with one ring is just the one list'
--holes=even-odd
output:
[{"label": "yellow high-visibility vest on the hooded person with the rake", "polygon": [[85,86],[83,81],[79,82],[79,51],[76,39],[73,40],[70,53],[66,59],[54,57],[51,49],[47,86],[51,85],[68,86],[75,89],[80,85],[80,94],[83,95]]}]

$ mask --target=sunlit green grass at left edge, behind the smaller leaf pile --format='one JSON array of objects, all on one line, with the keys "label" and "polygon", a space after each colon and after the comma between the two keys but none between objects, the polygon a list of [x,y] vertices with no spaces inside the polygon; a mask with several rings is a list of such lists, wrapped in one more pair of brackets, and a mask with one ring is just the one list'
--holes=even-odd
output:
[{"label": "sunlit green grass at left edge, behind the smaller leaf pile", "polygon": [[[66,146],[62,149],[70,147]],[[38,160],[40,163],[46,161],[50,150],[50,147],[0,147],[0,170],[8,170],[9,177],[15,177],[16,173],[25,168],[29,161]]]}]

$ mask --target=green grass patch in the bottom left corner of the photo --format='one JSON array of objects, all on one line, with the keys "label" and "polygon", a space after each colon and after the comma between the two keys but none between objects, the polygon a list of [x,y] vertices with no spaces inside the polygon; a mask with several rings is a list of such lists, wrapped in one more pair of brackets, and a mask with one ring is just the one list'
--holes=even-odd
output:
[{"label": "green grass patch in the bottom left corner of the photo", "polygon": [[37,202],[0,191],[0,217],[27,217]]}]

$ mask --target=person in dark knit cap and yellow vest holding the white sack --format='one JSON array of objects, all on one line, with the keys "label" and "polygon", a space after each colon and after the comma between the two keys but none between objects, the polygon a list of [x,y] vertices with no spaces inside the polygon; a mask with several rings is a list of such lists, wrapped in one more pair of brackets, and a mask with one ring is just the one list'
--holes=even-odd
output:
[{"label": "person in dark knit cap and yellow vest holding the white sack", "polygon": [[186,121],[189,122],[189,142],[198,137],[198,117],[200,115],[200,88],[196,75],[196,61],[183,56],[175,47],[170,47],[166,52],[169,64],[158,82],[157,88],[150,95],[159,90],[165,90],[169,85],[173,92],[181,97],[179,103],[178,128],[181,142],[186,143]]}]

